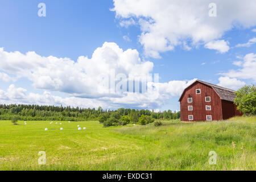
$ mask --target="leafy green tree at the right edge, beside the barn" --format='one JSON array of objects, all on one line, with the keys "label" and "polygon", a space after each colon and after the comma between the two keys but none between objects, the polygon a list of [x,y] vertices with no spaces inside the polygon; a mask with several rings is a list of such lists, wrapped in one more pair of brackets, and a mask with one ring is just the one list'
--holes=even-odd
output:
[{"label": "leafy green tree at the right edge, beside the barn", "polygon": [[243,114],[256,114],[256,86],[245,85],[241,89],[234,92],[234,104],[237,105],[237,110]]}]

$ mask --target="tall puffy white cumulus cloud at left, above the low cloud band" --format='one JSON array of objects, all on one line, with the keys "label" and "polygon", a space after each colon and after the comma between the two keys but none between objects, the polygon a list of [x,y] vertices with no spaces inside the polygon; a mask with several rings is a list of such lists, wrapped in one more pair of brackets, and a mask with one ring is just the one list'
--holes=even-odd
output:
[{"label": "tall puffy white cumulus cloud at left, above the low cloud band", "polygon": [[106,94],[102,77],[111,77],[112,73],[144,76],[154,67],[150,61],[141,61],[137,50],[123,51],[115,43],[104,43],[93,52],[91,58],[80,56],[77,61],[67,57],[43,57],[35,52],[6,52],[3,48],[0,48],[0,60],[2,71],[28,78],[36,89],[84,97]]}]

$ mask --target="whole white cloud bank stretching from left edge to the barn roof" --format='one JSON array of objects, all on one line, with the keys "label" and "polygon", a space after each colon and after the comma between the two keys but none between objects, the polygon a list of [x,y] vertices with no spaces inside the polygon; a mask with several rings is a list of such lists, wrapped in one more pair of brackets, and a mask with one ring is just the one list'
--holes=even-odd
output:
[{"label": "whole white cloud bank stretching from left edge to the barn roof", "polygon": [[[32,81],[35,89],[46,91],[43,94],[28,93],[26,89],[16,88],[12,84],[6,92],[1,90],[0,100],[9,104],[155,109],[166,103],[168,98],[179,96],[191,81],[148,81],[147,87],[154,87],[155,90],[148,90],[146,93],[126,90],[112,93],[104,86],[104,78],[113,77],[113,73],[123,73],[138,79],[148,75],[153,67],[152,62],[141,61],[137,50],[123,51],[115,43],[104,43],[93,52],[91,58],[80,56],[77,61],[67,57],[43,57],[35,52],[6,52],[0,48],[0,70],[7,76],[11,74],[16,78],[25,77]],[[67,97],[52,96],[52,91],[65,93]]]}]

